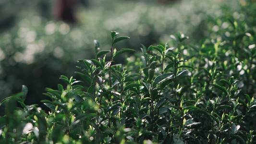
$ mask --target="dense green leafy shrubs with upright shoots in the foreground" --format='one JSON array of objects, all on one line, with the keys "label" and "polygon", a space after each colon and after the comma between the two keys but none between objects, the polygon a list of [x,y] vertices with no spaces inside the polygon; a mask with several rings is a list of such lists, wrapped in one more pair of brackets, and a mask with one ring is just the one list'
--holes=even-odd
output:
[{"label": "dense green leafy shrubs with upright shoots in the foreground", "polygon": [[45,89],[49,112],[24,103],[25,85],[0,102],[0,143],[254,144],[256,23],[246,8],[255,2],[244,2],[244,14],[209,19],[198,42],[178,33],[135,52],[119,48],[130,39],[116,31],[110,49],[94,40],[95,57],[78,60],[80,80],[61,75]]}]

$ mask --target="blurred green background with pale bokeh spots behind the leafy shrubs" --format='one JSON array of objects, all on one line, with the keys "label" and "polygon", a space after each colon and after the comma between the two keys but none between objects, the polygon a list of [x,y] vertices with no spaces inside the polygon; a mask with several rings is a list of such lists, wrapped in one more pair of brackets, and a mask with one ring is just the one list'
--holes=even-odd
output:
[{"label": "blurred green background with pale bokeh spots behind the leafy shrubs", "polygon": [[217,34],[209,32],[228,29],[230,17],[251,19],[256,29],[256,8],[248,1],[252,0],[1,0],[0,100],[20,92],[24,84],[25,103],[43,107],[45,87],[57,89],[61,75],[76,77],[76,61],[95,57],[94,39],[101,49],[109,49],[110,31],[131,37],[117,49],[139,52],[140,44],[171,43],[170,35],[181,32],[190,37],[190,44],[214,38]]}]

